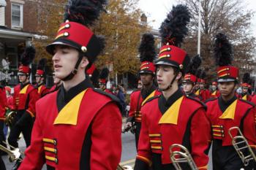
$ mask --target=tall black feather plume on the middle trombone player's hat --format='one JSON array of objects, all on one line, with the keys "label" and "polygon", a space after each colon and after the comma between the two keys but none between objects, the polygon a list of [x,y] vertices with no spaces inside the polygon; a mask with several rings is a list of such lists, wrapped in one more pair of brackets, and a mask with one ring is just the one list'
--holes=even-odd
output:
[{"label": "tall black feather plume on the middle trombone player's hat", "polygon": [[173,9],[159,28],[162,43],[181,47],[181,43],[188,32],[187,24],[190,18],[189,9],[186,6],[182,4],[178,4],[176,7],[173,6]]}]

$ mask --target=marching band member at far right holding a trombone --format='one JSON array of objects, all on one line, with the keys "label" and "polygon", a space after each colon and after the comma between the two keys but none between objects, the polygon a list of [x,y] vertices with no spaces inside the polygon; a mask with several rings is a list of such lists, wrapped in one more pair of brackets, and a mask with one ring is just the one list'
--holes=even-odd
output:
[{"label": "marching band member at far right holding a trombone", "polygon": [[[236,85],[238,85],[238,68],[231,65],[232,47],[225,34],[217,34],[214,51],[219,66],[217,77],[220,97],[206,103],[206,115],[212,127],[213,168],[214,170],[241,169],[244,165],[233,147],[228,131],[231,127],[238,126],[249,145],[255,147],[255,108],[248,101],[239,99],[235,95]],[[252,169],[252,167],[244,169]]]}]

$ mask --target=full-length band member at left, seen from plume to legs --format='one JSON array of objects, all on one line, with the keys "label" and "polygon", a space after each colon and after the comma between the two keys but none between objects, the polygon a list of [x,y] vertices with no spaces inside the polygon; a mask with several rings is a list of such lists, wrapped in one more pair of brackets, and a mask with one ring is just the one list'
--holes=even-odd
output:
[{"label": "full-length band member at left, seen from plume to legs", "polygon": [[[18,147],[18,138],[21,132],[24,136],[26,147],[29,147],[31,142],[31,131],[36,115],[35,104],[39,99],[37,89],[31,85],[31,82],[29,82],[31,74],[29,64],[32,63],[35,53],[36,51],[34,47],[26,47],[21,56],[22,64],[19,66],[18,70],[20,84],[16,85],[14,88],[14,106],[12,108],[17,112],[17,115],[15,116],[12,127],[10,127],[8,143],[15,148]],[[18,169],[19,165],[20,161],[16,161],[15,166],[12,169]]]}]

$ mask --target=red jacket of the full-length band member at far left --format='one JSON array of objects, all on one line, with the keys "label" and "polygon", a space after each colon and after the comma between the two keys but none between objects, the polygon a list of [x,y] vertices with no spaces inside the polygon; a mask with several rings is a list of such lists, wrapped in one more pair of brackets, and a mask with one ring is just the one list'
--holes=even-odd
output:
[{"label": "red jacket of the full-length band member at far left", "polygon": [[26,84],[22,89],[20,89],[20,84],[16,85],[13,94],[13,109],[23,110],[34,117],[36,114],[35,104],[39,99],[39,94],[37,89],[31,84]]}]

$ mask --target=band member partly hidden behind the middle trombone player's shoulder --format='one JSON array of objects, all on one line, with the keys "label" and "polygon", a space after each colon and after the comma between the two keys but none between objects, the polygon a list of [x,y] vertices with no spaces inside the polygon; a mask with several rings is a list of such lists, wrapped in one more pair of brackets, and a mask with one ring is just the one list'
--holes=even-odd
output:
[{"label": "band member partly hidden behind the middle trombone player's shoulder", "polygon": [[154,66],[154,58],[157,53],[154,47],[154,36],[152,34],[143,34],[139,47],[140,53],[140,80],[143,87],[135,90],[130,96],[129,117],[125,128],[135,125],[135,144],[138,149],[138,141],[141,127],[140,109],[148,98],[159,95],[159,91],[154,86],[154,77],[156,67]]}]

